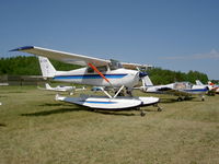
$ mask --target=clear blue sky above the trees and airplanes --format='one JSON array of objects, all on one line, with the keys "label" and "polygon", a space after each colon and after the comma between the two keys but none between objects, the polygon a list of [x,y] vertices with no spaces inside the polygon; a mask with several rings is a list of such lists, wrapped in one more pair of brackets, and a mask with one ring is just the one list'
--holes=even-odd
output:
[{"label": "clear blue sky above the trees and airplanes", "polygon": [[219,79],[218,0],[0,0],[0,57],[38,46]]}]

